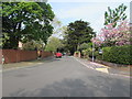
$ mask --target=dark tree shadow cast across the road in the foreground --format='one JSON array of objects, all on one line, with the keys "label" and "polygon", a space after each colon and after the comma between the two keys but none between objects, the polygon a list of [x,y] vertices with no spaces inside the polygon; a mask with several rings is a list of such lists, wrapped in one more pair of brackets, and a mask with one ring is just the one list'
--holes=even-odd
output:
[{"label": "dark tree shadow cast across the road in the foreground", "polygon": [[[64,79],[62,81],[55,81],[52,85],[47,85],[43,88],[28,90],[19,89],[10,97],[129,97],[129,87],[124,86],[120,80],[110,81],[99,77],[99,81],[94,84],[85,82],[81,79]],[[97,80],[90,78],[90,80]],[[103,84],[103,82],[107,84]],[[107,86],[106,86],[107,85]],[[117,87],[117,86],[118,87]],[[34,85],[35,86],[35,85]]]}]

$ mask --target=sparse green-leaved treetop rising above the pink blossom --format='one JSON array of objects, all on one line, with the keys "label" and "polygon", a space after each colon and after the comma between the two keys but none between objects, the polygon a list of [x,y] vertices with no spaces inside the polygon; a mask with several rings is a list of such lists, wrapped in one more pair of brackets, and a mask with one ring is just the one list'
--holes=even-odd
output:
[{"label": "sparse green-leaved treetop rising above the pink blossom", "polygon": [[124,13],[125,10],[127,6],[123,3],[114,10],[111,10],[110,7],[108,7],[108,11],[105,12],[105,25],[113,23],[113,28],[116,28],[119,21],[127,19],[127,15]]}]

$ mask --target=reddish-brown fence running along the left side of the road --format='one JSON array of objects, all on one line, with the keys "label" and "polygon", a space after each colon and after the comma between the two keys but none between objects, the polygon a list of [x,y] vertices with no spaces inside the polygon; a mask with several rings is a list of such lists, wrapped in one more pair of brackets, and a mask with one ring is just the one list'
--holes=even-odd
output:
[{"label": "reddish-brown fence running along the left side of the road", "polygon": [[[2,63],[2,55],[4,63],[18,63],[23,61],[32,61],[38,57],[37,51],[22,51],[22,50],[0,50],[0,63]],[[51,56],[52,53],[42,51],[42,57]]]}]

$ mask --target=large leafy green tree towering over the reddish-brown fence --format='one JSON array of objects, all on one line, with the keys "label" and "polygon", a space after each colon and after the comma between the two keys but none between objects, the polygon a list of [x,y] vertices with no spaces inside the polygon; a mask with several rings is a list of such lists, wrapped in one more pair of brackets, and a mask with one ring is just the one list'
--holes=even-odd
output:
[{"label": "large leafy green tree towering over the reddish-brown fence", "polygon": [[18,48],[19,41],[31,40],[47,42],[53,32],[50,22],[54,13],[45,2],[3,2],[2,3],[2,37],[3,48]]}]

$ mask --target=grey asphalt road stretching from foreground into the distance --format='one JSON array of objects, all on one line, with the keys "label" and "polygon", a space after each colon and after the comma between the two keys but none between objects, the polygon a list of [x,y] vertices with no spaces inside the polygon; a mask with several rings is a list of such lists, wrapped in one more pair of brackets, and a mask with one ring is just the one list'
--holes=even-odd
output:
[{"label": "grey asphalt road stretching from foreground into the distance", "polygon": [[3,97],[130,97],[130,79],[87,68],[72,56],[3,72]]}]

